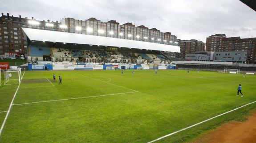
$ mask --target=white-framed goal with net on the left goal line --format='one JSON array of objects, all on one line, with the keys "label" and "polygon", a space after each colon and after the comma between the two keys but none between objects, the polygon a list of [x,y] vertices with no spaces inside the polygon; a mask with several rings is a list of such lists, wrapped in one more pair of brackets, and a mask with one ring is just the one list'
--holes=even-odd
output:
[{"label": "white-framed goal with net on the left goal line", "polygon": [[14,84],[20,84],[21,81],[21,70],[4,70],[4,82],[2,82],[4,85],[14,85]]}]

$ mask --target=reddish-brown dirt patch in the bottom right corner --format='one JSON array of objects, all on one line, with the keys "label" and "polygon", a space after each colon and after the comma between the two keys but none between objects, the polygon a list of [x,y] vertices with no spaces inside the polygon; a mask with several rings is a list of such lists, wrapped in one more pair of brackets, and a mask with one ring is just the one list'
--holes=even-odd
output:
[{"label": "reddish-brown dirt patch in the bottom right corner", "polygon": [[256,143],[256,111],[248,120],[223,124],[193,143]]}]

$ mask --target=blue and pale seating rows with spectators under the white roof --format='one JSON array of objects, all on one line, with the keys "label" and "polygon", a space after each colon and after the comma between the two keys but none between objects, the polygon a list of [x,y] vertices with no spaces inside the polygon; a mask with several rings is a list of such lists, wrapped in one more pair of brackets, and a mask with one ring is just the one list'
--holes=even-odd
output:
[{"label": "blue and pale seating rows with spectators under the white roof", "polygon": [[[54,62],[94,62],[94,63],[163,63],[169,62],[162,54],[142,54],[133,52],[122,52],[122,50],[102,49],[64,49],[44,46],[31,46],[29,49],[31,57],[45,60],[43,56],[50,56]],[[49,58],[49,59],[50,59]],[[49,60],[46,59],[46,60]]]}]

